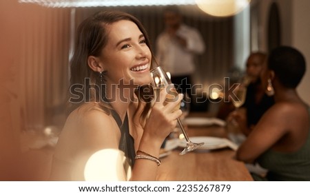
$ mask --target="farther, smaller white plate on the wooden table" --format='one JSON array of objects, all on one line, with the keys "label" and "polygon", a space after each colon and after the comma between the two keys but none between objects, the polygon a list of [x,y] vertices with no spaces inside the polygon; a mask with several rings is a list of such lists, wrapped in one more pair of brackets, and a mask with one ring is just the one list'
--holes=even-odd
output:
[{"label": "farther, smaller white plate on the wooden table", "polygon": [[220,125],[224,127],[226,125],[226,122],[222,119],[204,117],[189,117],[185,119],[185,123],[191,126]]}]

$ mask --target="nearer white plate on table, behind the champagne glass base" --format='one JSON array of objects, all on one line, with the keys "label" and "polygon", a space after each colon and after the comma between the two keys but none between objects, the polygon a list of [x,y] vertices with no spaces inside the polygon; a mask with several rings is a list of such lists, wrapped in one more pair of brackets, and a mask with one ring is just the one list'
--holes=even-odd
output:
[{"label": "nearer white plate on table, behind the champagne glass base", "polygon": [[[189,139],[194,143],[205,143],[198,150],[216,150],[224,147],[230,147],[233,150],[236,150],[238,146],[229,141],[227,138],[218,138],[211,136],[193,136]],[[183,139],[180,141],[179,146],[185,147],[186,141]]]}]

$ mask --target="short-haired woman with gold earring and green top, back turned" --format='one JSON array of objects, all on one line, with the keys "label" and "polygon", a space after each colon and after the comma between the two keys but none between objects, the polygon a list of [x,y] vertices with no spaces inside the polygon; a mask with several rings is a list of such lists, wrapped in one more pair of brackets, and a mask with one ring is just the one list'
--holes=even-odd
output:
[{"label": "short-haired woman with gold earring and green top, back turned", "polygon": [[236,158],[258,162],[268,170],[254,180],[310,181],[309,106],[296,87],[306,69],[303,55],[295,48],[281,46],[271,51],[262,70],[268,93],[274,90],[275,104],[265,112]]}]

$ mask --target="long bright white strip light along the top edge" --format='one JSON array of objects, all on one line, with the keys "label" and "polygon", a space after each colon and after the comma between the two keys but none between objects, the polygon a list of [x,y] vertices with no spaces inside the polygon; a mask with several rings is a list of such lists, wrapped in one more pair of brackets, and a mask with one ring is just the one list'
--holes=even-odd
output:
[{"label": "long bright white strip light along the top edge", "polygon": [[194,0],[19,0],[19,3],[37,3],[52,8],[81,8],[109,6],[167,6],[194,5]]}]

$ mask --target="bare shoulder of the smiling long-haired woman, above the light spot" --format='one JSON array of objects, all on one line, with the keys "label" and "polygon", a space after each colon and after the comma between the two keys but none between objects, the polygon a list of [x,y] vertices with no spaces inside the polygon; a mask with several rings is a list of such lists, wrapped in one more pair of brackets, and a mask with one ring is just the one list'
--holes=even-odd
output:
[{"label": "bare shoulder of the smiling long-haired woman, above the light spot", "polygon": [[79,147],[100,150],[105,147],[118,147],[121,133],[110,113],[85,103],[69,116],[59,137],[60,144],[71,143]]}]

